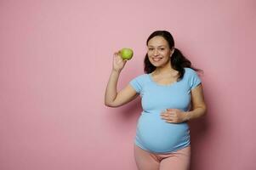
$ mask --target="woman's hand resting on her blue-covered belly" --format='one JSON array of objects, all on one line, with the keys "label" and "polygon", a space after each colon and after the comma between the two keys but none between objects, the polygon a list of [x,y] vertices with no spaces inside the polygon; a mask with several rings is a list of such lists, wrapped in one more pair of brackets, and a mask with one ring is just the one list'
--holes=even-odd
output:
[{"label": "woman's hand resting on her blue-covered belly", "polygon": [[179,109],[167,109],[161,112],[160,116],[163,120],[170,123],[180,123],[185,122],[185,114]]}]

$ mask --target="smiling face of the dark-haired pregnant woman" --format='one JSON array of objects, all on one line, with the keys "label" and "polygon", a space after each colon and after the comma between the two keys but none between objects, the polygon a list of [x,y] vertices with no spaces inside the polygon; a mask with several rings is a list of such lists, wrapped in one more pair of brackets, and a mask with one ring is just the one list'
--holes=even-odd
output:
[{"label": "smiling face of the dark-haired pregnant woman", "polygon": [[169,63],[171,49],[168,42],[161,36],[152,37],[148,42],[148,57],[154,66],[162,66]]}]

